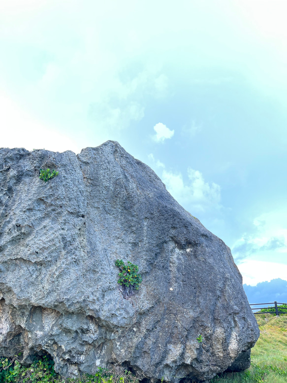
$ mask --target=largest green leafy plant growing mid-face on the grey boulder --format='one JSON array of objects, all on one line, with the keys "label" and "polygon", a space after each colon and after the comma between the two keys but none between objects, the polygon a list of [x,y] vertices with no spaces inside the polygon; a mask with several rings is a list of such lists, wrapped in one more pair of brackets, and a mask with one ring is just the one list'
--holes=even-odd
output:
[{"label": "largest green leafy plant growing mid-face on the grey boulder", "polygon": [[134,290],[138,290],[141,283],[141,275],[138,273],[138,266],[128,261],[125,265],[124,261],[117,259],[115,265],[120,269],[119,273],[119,289],[125,298],[134,294]]}]

